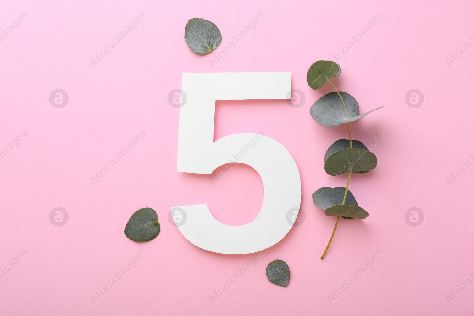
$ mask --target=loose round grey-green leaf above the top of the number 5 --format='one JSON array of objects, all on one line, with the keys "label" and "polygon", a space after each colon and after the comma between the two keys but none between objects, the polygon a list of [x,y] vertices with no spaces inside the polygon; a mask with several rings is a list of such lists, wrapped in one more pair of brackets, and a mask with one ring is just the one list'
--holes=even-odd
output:
[{"label": "loose round grey-green leaf above the top of the number 5", "polygon": [[194,53],[207,54],[219,46],[222,36],[211,21],[191,18],[184,29],[184,40]]}]

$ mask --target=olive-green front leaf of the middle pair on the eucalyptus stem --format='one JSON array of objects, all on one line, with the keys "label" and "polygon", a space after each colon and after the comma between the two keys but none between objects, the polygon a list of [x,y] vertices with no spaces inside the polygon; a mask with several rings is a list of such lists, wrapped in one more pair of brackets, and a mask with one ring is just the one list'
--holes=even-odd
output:
[{"label": "olive-green front leaf of the middle pair on the eucalyptus stem", "polygon": [[346,148],[331,154],[324,162],[324,171],[336,176],[346,172],[369,171],[377,166],[374,153],[361,148]]}]

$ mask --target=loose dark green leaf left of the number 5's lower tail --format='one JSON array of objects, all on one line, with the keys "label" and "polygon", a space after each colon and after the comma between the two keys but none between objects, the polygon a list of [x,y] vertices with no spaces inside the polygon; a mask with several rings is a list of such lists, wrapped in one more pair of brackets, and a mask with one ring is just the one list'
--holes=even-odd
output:
[{"label": "loose dark green leaf left of the number 5's lower tail", "polygon": [[152,240],[159,233],[158,215],[152,208],[140,208],[133,213],[125,226],[125,235],[137,242]]}]

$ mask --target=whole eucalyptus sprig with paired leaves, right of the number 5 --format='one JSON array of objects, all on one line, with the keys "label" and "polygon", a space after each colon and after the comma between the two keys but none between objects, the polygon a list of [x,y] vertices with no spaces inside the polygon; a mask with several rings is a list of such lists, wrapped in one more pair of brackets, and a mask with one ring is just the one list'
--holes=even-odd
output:
[{"label": "whole eucalyptus sprig with paired leaves, right of the number 5", "polygon": [[328,251],[334,233],[336,232],[339,218],[365,218],[369,216],[363,208],[357,205],[354,195],[348,190],[351,173],[366,173],[377,166],[377,157],[370,152],[367,147],[357,141],[352,140],[349,123],[365,117],[370,112],[382,108],[375,108],[371,111],[359,114],[359,104],[356,99],[346,92],[337,91],[331,83],[331,79],[341,73],[341,67],[334,62],[320,60],[313,63],[308,69],[306,81],[308,85],[317,90],[326,82],[336,90],[319,98],[311,106],[311,117],[320,125],[336,127],[341,124],[347,125],[349,139],[339,139],[329,146],[324,155],[324,170],[333,176],[339,176],[348,172],[346,188],[324,187],[313,193],[314,204],[324,209],[324,214],[328,216],[337,216],[336,226],[329,239],[328,246],[321,259]]}]

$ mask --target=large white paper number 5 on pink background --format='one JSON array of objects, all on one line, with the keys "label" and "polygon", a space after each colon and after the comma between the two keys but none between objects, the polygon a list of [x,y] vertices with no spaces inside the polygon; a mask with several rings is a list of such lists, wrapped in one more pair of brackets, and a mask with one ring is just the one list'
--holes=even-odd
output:
[{"label": "large white paper number 5 on pink background", "polygon": [[[216,100],[290,99],[291,73],[183,73],[181,89],[187,101],[180,108],[178,172],[211,174],[231,160],[237,162],[233,155],[258,135],[233,134],[214,142]],[[251,166],[262,178],[264,200],[260,213],[251,223],[229,226],[217,221],[207,204],[180,206],[186,220],[176,226],[192,244],[215,253],[255,253],[278,243],[291,229],[293,210],[301,203],[298,167],[282,144],[258,136],[256,147],[241,152],[238,162]]]}]

